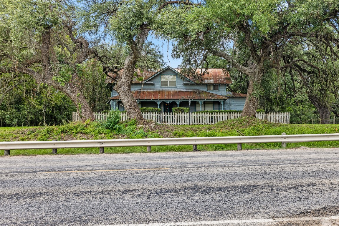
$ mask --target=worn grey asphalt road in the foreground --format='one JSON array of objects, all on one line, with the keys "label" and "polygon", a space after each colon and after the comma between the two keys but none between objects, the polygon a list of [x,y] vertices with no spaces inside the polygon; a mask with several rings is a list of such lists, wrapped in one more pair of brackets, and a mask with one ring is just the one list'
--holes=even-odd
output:
[{"label": "worn grey asphalt road in the foreground", "polygon": [[339,149],[0,157],[0,196],[0,225],[332,226]]}]

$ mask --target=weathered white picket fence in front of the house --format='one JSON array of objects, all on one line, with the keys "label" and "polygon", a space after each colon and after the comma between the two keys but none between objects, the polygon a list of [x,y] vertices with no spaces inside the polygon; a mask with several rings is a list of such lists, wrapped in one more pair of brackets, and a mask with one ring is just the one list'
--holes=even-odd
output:
[{"label": "weathered white picket fence in front of the house", "polygon": [[[94,112],[95,119],[106,120],[108,112]],[[121,112],[121,121],[126,121],[128,116],[126,112]],[[220,121],[229,119],[236,119],[241,116],[240,112],[214,112],[214,113],[200,113],[200,112],[143,112],[142,116],[146,120],[153,120],[159,124],[166,125],[211,125]],[[277,113],[262,113],[258,112],[256,117],[261,120],[275,123],[290,123],[290,112]],[[77,112],[73,112],[73,122],[81,121]]]}]

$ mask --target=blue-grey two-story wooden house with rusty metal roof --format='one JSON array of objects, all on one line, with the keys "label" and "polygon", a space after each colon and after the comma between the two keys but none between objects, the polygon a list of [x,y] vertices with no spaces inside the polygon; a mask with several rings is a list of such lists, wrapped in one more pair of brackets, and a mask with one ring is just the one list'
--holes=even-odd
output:
[{"label": "blue-grey two-story wooden house with rusty metal roof", "polygon": [[[200,69],[197,70],[200,73]],[[114,80],[107,77],[107,83]],[[246,94],[230,92],[232,80],[223,69],[207,69],[198,80],[180,76],[180,69],[167,66],[158,72],[138,71],[132,91],[139,107],[157,107],[172,112],[173,107],[201,110],[242,110]],[[112,87],[113,87],[112,86]],[[112,88],[110,109],[124,110],[119,94]]]}]

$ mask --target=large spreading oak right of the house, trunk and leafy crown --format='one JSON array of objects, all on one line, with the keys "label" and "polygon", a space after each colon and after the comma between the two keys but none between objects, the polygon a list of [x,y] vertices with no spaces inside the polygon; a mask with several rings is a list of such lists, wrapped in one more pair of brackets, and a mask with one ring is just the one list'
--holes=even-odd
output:
[{"label": "large spreading oak right of the house, trunk and leafy crown", "polygon": [[338,45],[338,7],[336,0],[206,0],[193,6],[171,1],[160,12],[157,30],[177,41],[174,56],[183,59],[182,67],[208,66],[213,55],[247,75],[242,116],[254,116],[265,71],[282,66],[287,44],[321,37],[330,49]]}]

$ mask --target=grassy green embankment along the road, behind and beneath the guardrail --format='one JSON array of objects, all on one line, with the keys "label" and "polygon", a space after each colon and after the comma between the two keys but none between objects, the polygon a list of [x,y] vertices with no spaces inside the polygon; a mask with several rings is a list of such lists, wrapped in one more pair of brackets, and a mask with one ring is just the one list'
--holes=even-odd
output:
[{"label": "grassy green embankment along the road, behind and beneath the guardrail", "polygon": [[[122,123],[119,131],[104,129],[99,122],[69,123],[45,127],[0,127],[0,141],[46,141],[87,139],[136,139],[161,137],[216,137],[216,136],[260,136],[292,134],[336,133],[339,125],[275,124],[253,118],[240,118],[219,122],[215,125],[155,125],[153,128],[137,126],[133,122]],[[339,147],[338,141],[287,143],[294,147]],[[280,143],[243,144],[243,149],[279,149]],[[58,149],[58,154],[92,154],[99,148]],[[236,150],[236,144],[198,145],[199,150]],[[152,152],[192,151],[192,145],[154,146]],[[11,150],[12,155],[51,154],[50,149]],[[142,153],[146,147],[105,148],[105,153]],[[3,150],[0,150],[3,155]]]}]

